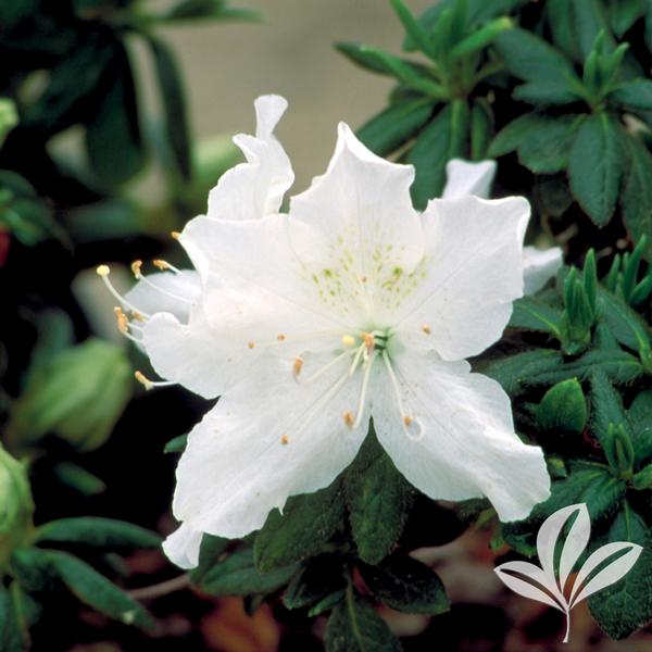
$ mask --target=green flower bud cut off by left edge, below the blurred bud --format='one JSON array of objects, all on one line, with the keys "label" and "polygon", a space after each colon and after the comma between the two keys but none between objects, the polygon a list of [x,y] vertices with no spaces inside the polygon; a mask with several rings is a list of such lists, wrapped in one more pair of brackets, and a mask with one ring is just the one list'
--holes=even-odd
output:
[{"label": "green flower bud cut off by left edge, below the blurred bud", "polygon": [[0,570],[29,537],[34,501],[23,464],[0,446]]}]

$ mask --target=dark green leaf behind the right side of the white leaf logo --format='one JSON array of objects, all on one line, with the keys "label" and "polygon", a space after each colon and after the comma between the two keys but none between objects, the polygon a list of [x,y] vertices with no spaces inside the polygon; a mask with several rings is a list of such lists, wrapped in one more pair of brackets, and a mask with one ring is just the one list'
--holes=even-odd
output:
[{"label": "dark green leaf behind the right side of the white leaf logo", "polygon": [[625,503],[604,540],[597,540],[595,547],[611,541],[643,547],[637,563],[623,579],[589,598],[589,609],[600,627],[619,640],[652,618],[652,534],[644,518]]}]

